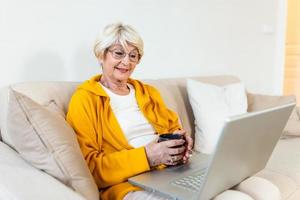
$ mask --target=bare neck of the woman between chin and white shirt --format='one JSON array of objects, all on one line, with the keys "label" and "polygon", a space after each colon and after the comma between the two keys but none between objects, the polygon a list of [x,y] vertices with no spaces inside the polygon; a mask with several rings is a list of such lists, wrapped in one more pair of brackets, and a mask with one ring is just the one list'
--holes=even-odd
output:
[{"label": "bare neck of the woman between chin and white shirt", "polygon": [[110,89],[113,92],[122,94],[127,94],[129,92],[129,89],[127,87],[127,81],[112,80],[106,77],[105,75],[102,75],[100,82],[102,83],[102,85],[104,85],[106,88]]}]

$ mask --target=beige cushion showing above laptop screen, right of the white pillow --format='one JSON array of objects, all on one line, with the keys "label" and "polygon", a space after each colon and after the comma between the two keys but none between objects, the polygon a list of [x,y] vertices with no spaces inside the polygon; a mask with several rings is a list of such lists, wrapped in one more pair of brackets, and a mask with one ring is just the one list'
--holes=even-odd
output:
[{"label": "beige cushion showing above laptop screen, right of the white pillow", "polygon": [[296,98],[294,95],[271,96],[254,93],[247,93],[247,100],[248,112],[263,110],[274,106],[296,102]]}]

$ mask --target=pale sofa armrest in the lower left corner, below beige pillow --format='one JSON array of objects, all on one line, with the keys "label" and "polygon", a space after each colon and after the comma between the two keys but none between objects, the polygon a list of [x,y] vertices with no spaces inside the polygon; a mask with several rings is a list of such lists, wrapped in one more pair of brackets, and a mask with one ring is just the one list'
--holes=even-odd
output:
[{"label": "pale sofa armrest in the lower left corner, below beige pillow", "polygon": [[85,200],[52,176],[32,167],[0,142],[0,199]]}]

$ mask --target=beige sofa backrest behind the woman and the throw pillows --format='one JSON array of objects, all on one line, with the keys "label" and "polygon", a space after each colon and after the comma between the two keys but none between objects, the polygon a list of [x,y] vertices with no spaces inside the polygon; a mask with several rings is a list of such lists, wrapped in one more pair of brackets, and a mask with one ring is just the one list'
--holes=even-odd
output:
[{"label": "beige sofa backrest behind the woman and the throw pillows", "polygon": [[[191,78],[215,85],[239,82],[239,79],[234,76]],[[168,78],[145,80],[144,82],[153,85],[160,91],[166,105],[179,115],[180,122],[184,129],[193,135],[194,116],[188,101],[186,80],[187,78]],[[64,115],[67,112],[70,98],[79,84],[79,82],[25,82],[13,84],[10,87],[32,98],[37,103],[44,105],[50,110],[54,110],[57,113]],[[0,128],[3,136],[6,134],[5,118],[7,115],[7,101],[8,87],[2,88],[0,91],[0,105],[2,106],[0,108]]]}]

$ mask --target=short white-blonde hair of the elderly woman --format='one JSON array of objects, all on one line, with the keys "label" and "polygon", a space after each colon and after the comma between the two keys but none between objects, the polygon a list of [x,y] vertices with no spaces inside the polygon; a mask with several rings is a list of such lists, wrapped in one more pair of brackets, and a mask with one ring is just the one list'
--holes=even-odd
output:
[{"label": "short white-blonde hair of the elderly woman", "polygon": [[121,44],[123,48],[126,48],[128,44],[135,46],[139,51],[140,58],[144,54],[144,42],[138,32],[131,26],[119,22],[107,25],[97,36],[94,45],[95,56],[103,59],[106,50],[117,43]]}]

